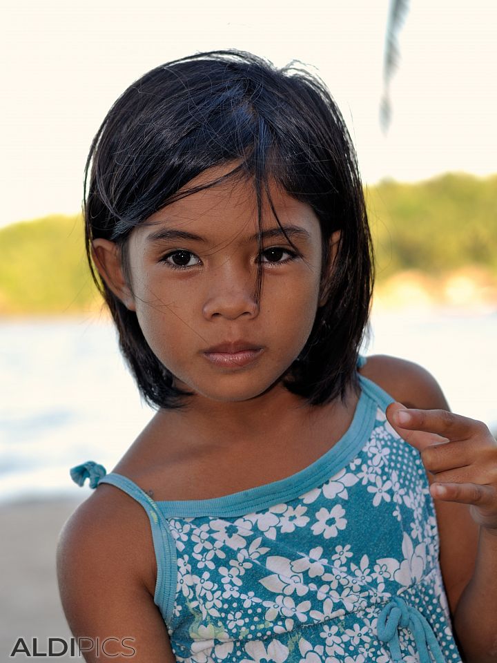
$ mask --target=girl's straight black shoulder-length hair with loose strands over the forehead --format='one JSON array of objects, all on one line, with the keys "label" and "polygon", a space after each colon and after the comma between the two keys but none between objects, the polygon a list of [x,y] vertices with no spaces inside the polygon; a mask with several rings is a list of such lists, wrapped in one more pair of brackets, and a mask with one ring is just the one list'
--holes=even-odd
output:
[{"label": "girl's straight black shoulder-length hair with loose strands over the forehead", "polygon": [[[186,187],[206,169],[230,162],[236,165],[227,175]],[[230,177],[253,181],[259,227],[264,195],[275,213],[270,179],[309,204],[320,222],[327,300],[282,384],[311,405],[343,398],[350,385],[358,390],[355,368],[369,318],[373,249],[347,127],[324,83],[294,61],[276,68],[248,52],[217,50],[171,61],[133,83],[110,108],[86,162],[88,263],[140,393],[166,409],[184,407],[191,395],[175,386],[175,376],[152,352],[135,311],[100,282],[92,240],[116,242],[129,285],[126,249],[133,228],[175,200]],[[337,230],[338,253],[328,278],[329,240]],[[257,302],[261,278],[259,265]]]}]

